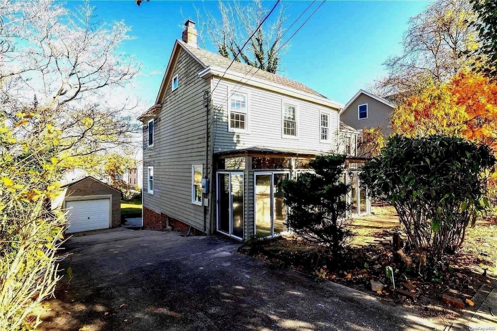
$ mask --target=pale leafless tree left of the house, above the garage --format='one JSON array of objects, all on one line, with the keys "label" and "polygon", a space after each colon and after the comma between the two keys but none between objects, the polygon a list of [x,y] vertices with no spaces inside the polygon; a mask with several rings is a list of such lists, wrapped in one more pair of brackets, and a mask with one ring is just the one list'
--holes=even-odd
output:
[{"label": "pale leafless tree left of the house, above the garage", "polygon": [[123,21],[98,20],[87,2],[70,11],[52,0],[0,0],[2,115],[36,99],[75,155],[132,143],[137,128],[126,88],[140,64],[118,50],[132,39],[129,31]]}]

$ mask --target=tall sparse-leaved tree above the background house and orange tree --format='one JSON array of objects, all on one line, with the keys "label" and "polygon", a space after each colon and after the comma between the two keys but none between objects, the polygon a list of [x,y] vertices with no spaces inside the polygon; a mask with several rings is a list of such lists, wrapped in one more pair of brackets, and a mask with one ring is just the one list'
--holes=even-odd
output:
[{"label": "tall sparse-leaved tree above the background house and orange tree", "polygon": [[428,79],[444,82],[473,65],[477,31],[470,23],[477,16],[469,0],[436,0],[411,17],[402,42],[404,51],[385,61],[388,75],[370,89],[399,101],[423,88]]}]

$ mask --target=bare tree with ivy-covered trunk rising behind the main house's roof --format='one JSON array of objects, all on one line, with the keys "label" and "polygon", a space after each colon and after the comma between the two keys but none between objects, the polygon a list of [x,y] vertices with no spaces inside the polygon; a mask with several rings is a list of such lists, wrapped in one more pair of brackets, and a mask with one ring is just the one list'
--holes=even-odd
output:
[{"label": "bare tree with ivy-covered trunk rising behind the main house's roof", "polygon": [[[219,1],[218,14],[221,19],[207,9],[197,8],[199,37],[205,45],[205,35],[202,35],[205,31],[222,56],[274,74],[278,71],[280,58],[288,49],[288,45],[285,45],[278,51],[283,44],[284,24],[288,18],[286,8],[287,5],[281,5],[276,16],[269,17],[257,31],[270,10],[261,0],[248,3],[239,0]],[[254,32],[254,36],[242,50]]]}]

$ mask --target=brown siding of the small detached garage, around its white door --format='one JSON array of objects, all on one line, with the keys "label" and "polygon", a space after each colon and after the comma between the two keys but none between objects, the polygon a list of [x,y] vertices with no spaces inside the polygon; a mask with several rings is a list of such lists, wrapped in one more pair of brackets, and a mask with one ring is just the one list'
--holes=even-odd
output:
[{"label": "brown siding of the small detached garage, around its white door", "polygon": [[[82,197],[79,200],[85,200],[85,196],[111,195],[111,224],[112,228],[121,226],[121,192],[117,191],[101,182],[86,178],[66,188],[65,198]],[[65,207],[64,205],[62,206]]]}]

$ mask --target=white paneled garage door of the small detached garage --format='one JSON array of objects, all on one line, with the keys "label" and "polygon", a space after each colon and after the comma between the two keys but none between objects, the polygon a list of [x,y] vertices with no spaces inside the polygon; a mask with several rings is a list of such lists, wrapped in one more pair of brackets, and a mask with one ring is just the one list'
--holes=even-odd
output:
[{"label": "white paneled garage door of the small detached garage", "polygon": [[109,228],[110,199],[66,201],[66,233]]}]

